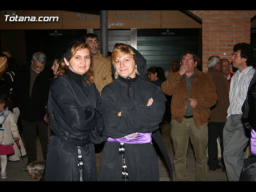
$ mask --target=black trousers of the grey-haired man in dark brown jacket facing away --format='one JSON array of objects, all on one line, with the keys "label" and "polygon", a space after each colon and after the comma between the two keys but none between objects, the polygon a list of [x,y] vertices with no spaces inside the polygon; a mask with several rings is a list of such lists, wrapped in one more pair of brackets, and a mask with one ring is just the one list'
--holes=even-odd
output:
[{"label": "black trousers of the grey-haired man in dark brown jacket facing away", "polygon": [[[216,168],[223,160],[223,128],[226,122],[209,122],[208,123],[208,166],[210,168]],[[221,160],[218,160],[218,143],[217,139],[220,136],[220,151]]]}]

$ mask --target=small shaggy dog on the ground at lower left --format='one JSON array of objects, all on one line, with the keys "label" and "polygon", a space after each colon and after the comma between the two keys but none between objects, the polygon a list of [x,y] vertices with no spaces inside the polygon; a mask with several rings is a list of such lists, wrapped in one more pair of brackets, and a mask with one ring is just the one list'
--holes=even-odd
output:
[{"label": "small shaggy dog on the ground at lower left", "polygon": [[33,179],[37,179],[38,176],[44,173],[45,162],[34,161],[26,166],[26,172],[32,176]]}]

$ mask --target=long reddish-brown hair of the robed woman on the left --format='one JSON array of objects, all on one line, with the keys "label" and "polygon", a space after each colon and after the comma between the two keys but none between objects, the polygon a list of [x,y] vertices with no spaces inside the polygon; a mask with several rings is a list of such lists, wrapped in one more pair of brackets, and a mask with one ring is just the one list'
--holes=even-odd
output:
[{"label": "long reddish-brown hair of the robed woman on the left", "polygon": [[[82,42],[78,42],[78,43],[74,44],[71,48],[70,59],[68,60],[68,62],[70,62],[70,60],[74,57],[74,55],[76,54],[76,52],[78,50],[82,50],[82,49],[88,49],[89,52],[90,52],[88,44],[82,43]],[[90,58],[90,61],[91,61],[90,62],[90,68],[86,72],[86,82],[88,84],[91,84],[93,82],[93,72],[92,72],[93,65],[92,65],[92,59],[91,58]],[[60,75],[67,75],[68,74],[67,68],[68,68],[68,66],[66,66],[66,63],[65,63],[64,57],[63,57],[62,60],[61,60],[61,68],[56,72],[54,78],[57,78]]]}]

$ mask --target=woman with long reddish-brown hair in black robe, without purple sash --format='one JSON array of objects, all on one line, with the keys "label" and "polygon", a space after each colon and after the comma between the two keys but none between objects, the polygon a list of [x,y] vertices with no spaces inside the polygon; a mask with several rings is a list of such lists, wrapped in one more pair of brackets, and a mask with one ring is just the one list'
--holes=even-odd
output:
[{"label": "woman with long reddish-brown hair in black robe, without purple sash", "polygon": [[72,42],[60,67],[48,98],[45,181],[96,181],[94,144],[102,142],[104,123],[88,45]]}]

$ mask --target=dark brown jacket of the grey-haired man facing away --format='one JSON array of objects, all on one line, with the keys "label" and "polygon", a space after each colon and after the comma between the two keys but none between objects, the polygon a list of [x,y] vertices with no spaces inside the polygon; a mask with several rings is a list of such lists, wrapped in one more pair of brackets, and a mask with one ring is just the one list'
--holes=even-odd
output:
[{"label": "dark brown jacket of the grey-haired man facing away", "polygon": [[211,108],[210,121],[226,122],[227,111],[229,106],[229,82],[228,79],[218,70],[210,68],[207,72],[212,77],[212,81],[216,87],[218,101]]}]

